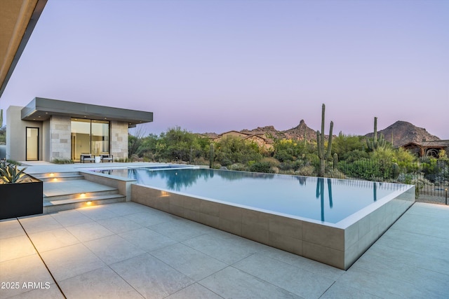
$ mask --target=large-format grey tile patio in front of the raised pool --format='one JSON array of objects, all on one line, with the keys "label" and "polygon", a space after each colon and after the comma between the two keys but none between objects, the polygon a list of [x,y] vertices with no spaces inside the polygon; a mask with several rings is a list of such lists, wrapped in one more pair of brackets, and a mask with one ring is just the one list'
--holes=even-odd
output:
[{"label": "large-format grey tile patio in front of the raised pool", "polygon": [[449,207],[347,271],[133,202],[0,221],[0,298],[448,298]]}]

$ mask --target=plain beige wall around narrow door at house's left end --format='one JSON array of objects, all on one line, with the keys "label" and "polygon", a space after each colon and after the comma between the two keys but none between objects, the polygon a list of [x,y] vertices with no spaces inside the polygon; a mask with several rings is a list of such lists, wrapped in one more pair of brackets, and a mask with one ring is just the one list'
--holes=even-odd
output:
[{"label": "plain beige wall around narrow door at house's left end", "polygon": [[26,128],[39,127],[39,160],[42,159],[42,122],[21,120],[23,107],[9,106],[6,111],[6,159],[25,161]]}]

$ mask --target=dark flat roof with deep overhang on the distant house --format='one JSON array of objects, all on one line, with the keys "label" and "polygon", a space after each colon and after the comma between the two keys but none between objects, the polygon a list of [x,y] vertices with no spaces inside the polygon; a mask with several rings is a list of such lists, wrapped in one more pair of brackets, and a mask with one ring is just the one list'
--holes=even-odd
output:
[{"label": "dark flat roof with deep overhang on the distant house", "polygon": [[72,118],[94,120],[117,120],[128,123],[128,127],[135,127],[135,125],[140,123],[153,121],[152,112],[67,102],[59,99],[45,99],[42,97],[35,97],[21,112],[22,120],[34,121],[48,120],[51,116],[70,116]]}]

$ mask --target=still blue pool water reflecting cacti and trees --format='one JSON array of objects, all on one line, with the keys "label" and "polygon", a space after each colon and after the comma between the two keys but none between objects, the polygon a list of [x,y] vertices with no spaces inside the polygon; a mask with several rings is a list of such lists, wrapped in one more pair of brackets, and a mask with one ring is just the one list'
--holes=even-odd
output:
[{"label": "still blue pool water reflecting cacti and trees", "polygon": [[[105,171],[103,171],[105,173]],[[120,169],[137,183],[260,211],[338,223],[406,185],[218,169]]]}]

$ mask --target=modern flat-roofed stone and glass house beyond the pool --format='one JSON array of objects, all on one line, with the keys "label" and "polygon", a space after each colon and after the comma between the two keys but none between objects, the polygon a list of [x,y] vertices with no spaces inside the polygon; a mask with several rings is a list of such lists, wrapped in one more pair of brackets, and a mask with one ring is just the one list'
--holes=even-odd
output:
[{"label": "modern flat-roofed stone and glass house beyond the pool", "polygon": [[81,155],[128,158],[128,128],[153,121],[153,113],[36,97],[6,112],[6,159],[74,160]]}]

